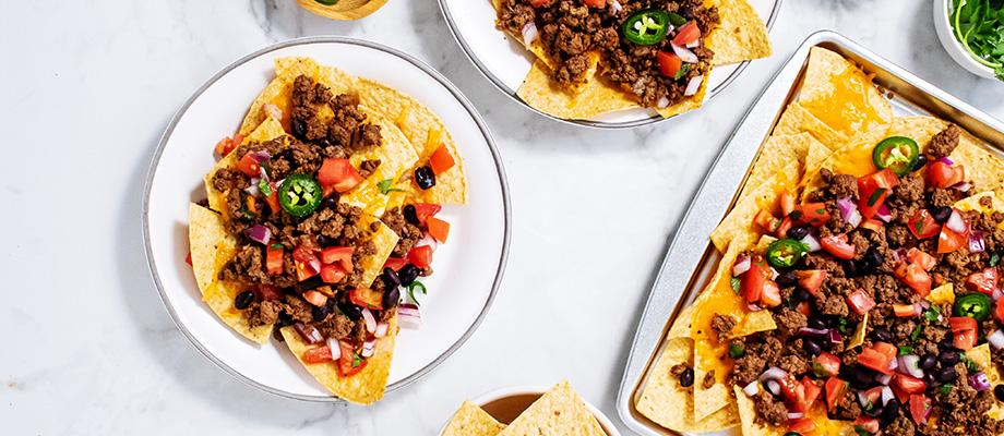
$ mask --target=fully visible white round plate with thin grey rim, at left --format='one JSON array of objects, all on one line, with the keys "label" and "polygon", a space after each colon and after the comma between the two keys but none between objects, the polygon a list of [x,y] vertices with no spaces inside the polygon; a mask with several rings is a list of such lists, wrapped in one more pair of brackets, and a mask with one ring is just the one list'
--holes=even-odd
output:
[{"label": "fully visible white round plate with thin grey rim, at left", "polygon": [[178,327],[224,371],[279,396],[339,401],[285,344],[273,338],[259,346],[223,324],[202,302],[184,262],[189,203],[206,196],[203,178],[215,164],[213,146],[237,131],[275,75],[274,59],[286,56],[309,56],[411,95],[446,124],[466,167],[469,203],[446,205],[441,213],[452,223],[450,240],[435,252],[435,274],[423,279],[425,325],[397,338],[387,386],[394,391],[442,363],[478,327],[502,279],[511,229],[505,172],[488,128],[456,87],[421,61],[373,43],[320,37],[262,49],[216,74],[171,120],[151,164],[143,205],[150,269]]}]

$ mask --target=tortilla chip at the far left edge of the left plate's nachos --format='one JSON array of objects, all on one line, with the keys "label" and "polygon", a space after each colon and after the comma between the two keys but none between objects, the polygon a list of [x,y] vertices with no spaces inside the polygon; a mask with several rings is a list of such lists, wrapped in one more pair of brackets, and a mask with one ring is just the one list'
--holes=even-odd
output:
[{"label": "tortilla chip at the far left edge of the left plate's nachos", "polygon": [[244,289],[239,283],[217,279],[219,270],[237,250],[237,241],[227,235],[219,215],[194,203],[189,205],[189,244],[202,300],[220,320],[241,336],[258,343],[268,342],[272,326],[251,328],[234,306],[234,298]]}]

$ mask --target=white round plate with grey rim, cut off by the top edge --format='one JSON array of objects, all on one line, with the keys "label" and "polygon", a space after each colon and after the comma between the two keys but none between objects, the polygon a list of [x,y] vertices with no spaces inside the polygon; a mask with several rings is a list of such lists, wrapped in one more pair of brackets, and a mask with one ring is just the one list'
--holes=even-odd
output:
[{"label": "white round plate with grey rim, cut off by the top edge", "polygon": [[[767,29],[774,25],[780,11],[781,0],[748,0],[761,19],[767,22]],[[516,96],[516,89],[534,63],[534,55],[521,41],[507,38],[495,28],[495,9],[491,0],[439,0],[446,23],[471,62],[503,94],[535,112],[558,121],[591,128],[635,128],[666,120],[652,109],[636,108],[605,113],[586,120],[564,120],[543,113],[526,105]],[[726,86],[745,70],[746,62],[715,66],[708,77],[705,101],[721,93]]]}]

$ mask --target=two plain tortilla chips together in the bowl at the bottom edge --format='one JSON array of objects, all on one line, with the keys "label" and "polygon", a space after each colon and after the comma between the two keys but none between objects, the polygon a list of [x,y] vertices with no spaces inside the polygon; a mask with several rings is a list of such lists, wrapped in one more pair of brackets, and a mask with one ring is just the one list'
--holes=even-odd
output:
[{"label": "two plain tortilla chips together in the bowl at the bottom edge", "polygon": [[443,436],[529,435],[605,436],[607,432],[566,380],[543,392],[509,424],[500,423],[483,409],[464,401],[443,432]]}]

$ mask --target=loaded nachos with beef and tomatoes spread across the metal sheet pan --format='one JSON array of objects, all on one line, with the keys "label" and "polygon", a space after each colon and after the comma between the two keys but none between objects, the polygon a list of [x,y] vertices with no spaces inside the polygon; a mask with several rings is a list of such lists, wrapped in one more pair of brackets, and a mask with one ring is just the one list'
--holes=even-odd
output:
[{"label": "loaded nachos with beef and tomatoes spread across the metal sheet pan", "polygon": [[1002,165],[813,48],[635,408],[689,433],[1004,433]]}]

